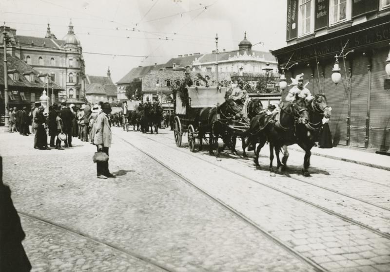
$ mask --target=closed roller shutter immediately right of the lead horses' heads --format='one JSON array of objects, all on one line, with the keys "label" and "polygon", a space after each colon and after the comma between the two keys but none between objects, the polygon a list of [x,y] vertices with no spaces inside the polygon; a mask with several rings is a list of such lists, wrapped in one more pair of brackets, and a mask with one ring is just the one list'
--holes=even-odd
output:
[{"label": "closed roller shutter immediately right of the lead horses' heads", "polygon": [[[341,80],[336,85],[331,79],[333,62],[326,64],[324,75],[323,90],[328,101],[328,105],[332,108],[332,116],[329,120],[333,145],[347,145],[348,138],[348,109],[349,109],[349,93],[346,78],[349,73],[349,62],[340,61]],[[322,83],[321,83],[322,85]]]}]

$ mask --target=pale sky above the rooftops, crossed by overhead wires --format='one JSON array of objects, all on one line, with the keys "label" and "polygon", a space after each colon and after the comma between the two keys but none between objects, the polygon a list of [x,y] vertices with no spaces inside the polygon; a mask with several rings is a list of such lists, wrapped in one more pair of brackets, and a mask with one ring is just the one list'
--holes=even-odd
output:
[{"label": "pale sky above the rooftops, crossed by overhead wires", "polygon": [[[247,32],[254,50],[286,45],[287,0],[1,0],[0,21],[17,35],[62,39],[70,20],[86,73],[114,82],[132,68],[179,54],[236,50]],[[94,53],[94,54],[90,54]],[[108,55],[105,55],[108,54]]]}]

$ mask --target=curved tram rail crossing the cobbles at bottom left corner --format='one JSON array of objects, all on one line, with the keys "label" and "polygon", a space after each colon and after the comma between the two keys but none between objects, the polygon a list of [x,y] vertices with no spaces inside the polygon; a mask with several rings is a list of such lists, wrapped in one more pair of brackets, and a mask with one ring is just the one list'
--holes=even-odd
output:
[{"label": "curved tram rail crossing the cobbles at bottom left corner", "polygon": [[103,246],[106,246],[106,247],[109,247],[111,248],[112,250],[116,251],[117,253],[121,253],[121,254],[126,254],[127,256],[133,258],[133,259],[137,259],[139,261],[142,261],[144,263],[147,263],[149,265],[152,265],[154,267],[156,267],[156,269],[159,269],[160,271],[164,271],[164,272],[175,272],[174,270],[172,269],[168,269],[158,263],[156,263],[155,261],[153,261],[152,259],[146,257],[146,256],[143,256],[143,255],[140,255],[140,254],[137,254],[135,252],[131,252],[129,250],[126,250],[126,249],[123,249],[121,247],[118,247],[117,245],[114,245],[113,243],[110,243],[110,242],[107,242],[107,241],[103,241],[97,237],[93,237],[93,236],[90,236],[86,233],[83,233],[83,232],[80,232],[80,231],[77,231],[77,230],[73,230],[71,228],[68,228],[62,224],[58,224],[58,223],[55,223],[53,221],[50,221],[50,220],[47,220],[47,219],[44,219],[44,218],[41,218],[41,217],[38,217],[38,216],[34,216],[34,215],[31,215],[29,213],[26,213],[26,212],[20,212],[18,211],[18,214],[24,218],[30,218],[30,219],[33,219],[33,220],[37,220],[43,224],[46,224],[46,225],[49,225],[49,226],[52,226],[52,227],[55,227],[61,231],[65,231],[71,235],[74,235],[74,236],[78,236],[78,237],[82,237],[82,238],[85,238],[85,239],[88,239],[89,241],[92,241],[94,243],[97,243],[99,245],[103,245]]}]

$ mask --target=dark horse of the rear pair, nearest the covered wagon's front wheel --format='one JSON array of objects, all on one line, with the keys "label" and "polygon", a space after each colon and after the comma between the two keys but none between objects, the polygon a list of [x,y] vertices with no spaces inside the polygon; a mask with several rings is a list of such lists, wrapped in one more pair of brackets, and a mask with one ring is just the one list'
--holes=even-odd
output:
[{"label": "dark horse of the rear pair, nearest the covered wagon's front wheel", "polygon": [[[228,146],[231,147],[232,134],[229,132],[231,129],[229,125],[234,124],[234,120],[242,117],[241,109],[237,106],[233,99],[226,99],[221,105],[216,108],[203,108],[199,112],[199,150],[202,150],[202,139],[206,133],[209,132],[209,153],[214,155],[213,143],[216,145],[217,159],[219,153]],[[218,148],[218,137],[223,140],[223,147]]]}]

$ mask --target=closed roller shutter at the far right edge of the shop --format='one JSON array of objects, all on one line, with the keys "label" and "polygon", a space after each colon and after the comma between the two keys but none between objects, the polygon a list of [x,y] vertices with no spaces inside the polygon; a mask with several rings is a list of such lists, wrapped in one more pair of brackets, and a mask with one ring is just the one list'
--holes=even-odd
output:
[{"label": "closed roller shutter at the far right edge of the shop", "polygon": [[385,71],[388,50],[372,57],[369,148],[390,149],[390,78]]}]

